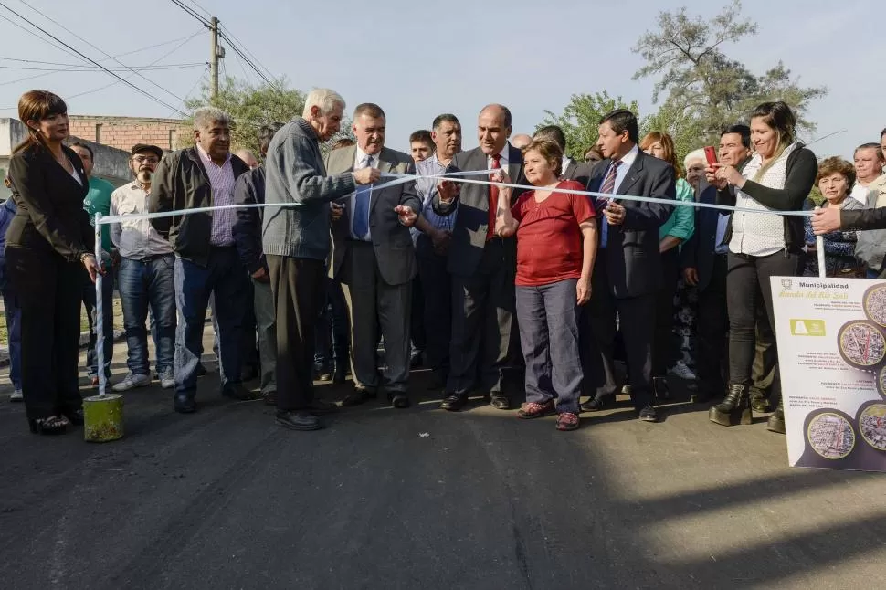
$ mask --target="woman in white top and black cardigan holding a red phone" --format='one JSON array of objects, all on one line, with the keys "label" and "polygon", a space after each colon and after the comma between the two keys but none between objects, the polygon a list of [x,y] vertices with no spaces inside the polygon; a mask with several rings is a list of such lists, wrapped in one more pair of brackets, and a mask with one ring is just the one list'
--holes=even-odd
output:
[{"label": "woman in white top and black cardigan holding a red phone", "polygon": [[[719,189],[720,204],[760,212],[734,212],[726,230],[729,389],[723,403],[712,406],[708,414],[723,426],[753,422],[749,385],[757,312],[764,306],[765,314],[760,315],[775,330],[769,279],[798,276],[803,267],[802,217],[774,215],[802,210],[818,173],[815,154],[796,141],[795,129],[796,117],[784,102],[764,102],[751,113],[754,157],[743,172],[722,164],[707,169],[708,181]],[[778,427],[779,419],[783,420],[781,406],[770,429]]]}]

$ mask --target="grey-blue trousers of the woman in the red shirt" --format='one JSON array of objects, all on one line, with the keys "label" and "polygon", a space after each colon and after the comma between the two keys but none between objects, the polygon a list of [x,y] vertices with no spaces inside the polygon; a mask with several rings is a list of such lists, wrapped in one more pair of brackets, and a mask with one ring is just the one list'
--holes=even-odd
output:
[{"label": "grey-blue trousers of the woman in the red shirt", "polygon": [[517,325],[526,359],[526,401],[557,398],[558,412],[578,414],[582,363],[578,348],[576,279],[517,287]]}]

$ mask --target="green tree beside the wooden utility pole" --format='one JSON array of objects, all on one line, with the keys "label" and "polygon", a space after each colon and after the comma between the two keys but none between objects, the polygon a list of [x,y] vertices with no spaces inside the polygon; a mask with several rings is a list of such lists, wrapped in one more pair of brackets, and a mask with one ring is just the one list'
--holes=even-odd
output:
[{"label": "green tree beside the wooden utility pole", "polygon": [[301,90],[289,88],[285,78],[273,82],[253,85],[227,77],[218,88],[216,100],[210,100],[209,87],[204,86],[203,95],[198,99],[186,100],[185,107],[193,113],[211,104],[227,111],[235,123],[231,147],[248,149],[258,157],[258,130],[275,121],[290,121],[292,117],[301,115],[304,109],[305,95]]}]

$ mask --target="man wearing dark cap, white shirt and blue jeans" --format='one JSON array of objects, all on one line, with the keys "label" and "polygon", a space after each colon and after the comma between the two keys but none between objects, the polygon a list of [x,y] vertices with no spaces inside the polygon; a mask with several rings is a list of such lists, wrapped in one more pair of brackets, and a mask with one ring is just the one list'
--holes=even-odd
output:
[{"label": "man wearing dark cap, white shirt and blue jeans", "polygon": [[[163,150],[139,143],[132,148],[129,165],[135,180],[111,195],[111,215],[141,215],[148,211],[148,194]],[[175,386],[175,284],[173,247],[151,225],[149,219],[132,219],[111,224],[111,241],[120,256],[117,288],[123,307],[129,368],[114,391],[151,385],[148,334],[145,321],[153,313],[156,367],[164,389]]]}]

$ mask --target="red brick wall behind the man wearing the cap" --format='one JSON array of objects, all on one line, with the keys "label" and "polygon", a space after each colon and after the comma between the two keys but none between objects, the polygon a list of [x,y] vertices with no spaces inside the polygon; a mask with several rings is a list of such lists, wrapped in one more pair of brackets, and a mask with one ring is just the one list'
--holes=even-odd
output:
[{"label": "red brick wall behind the man wearing the cap", "polygon": [[127,152],[136,143],[151,143],[163,150],[183,147],[190,127],[177,119],[141,117],[70,116],[70,134]]}]

